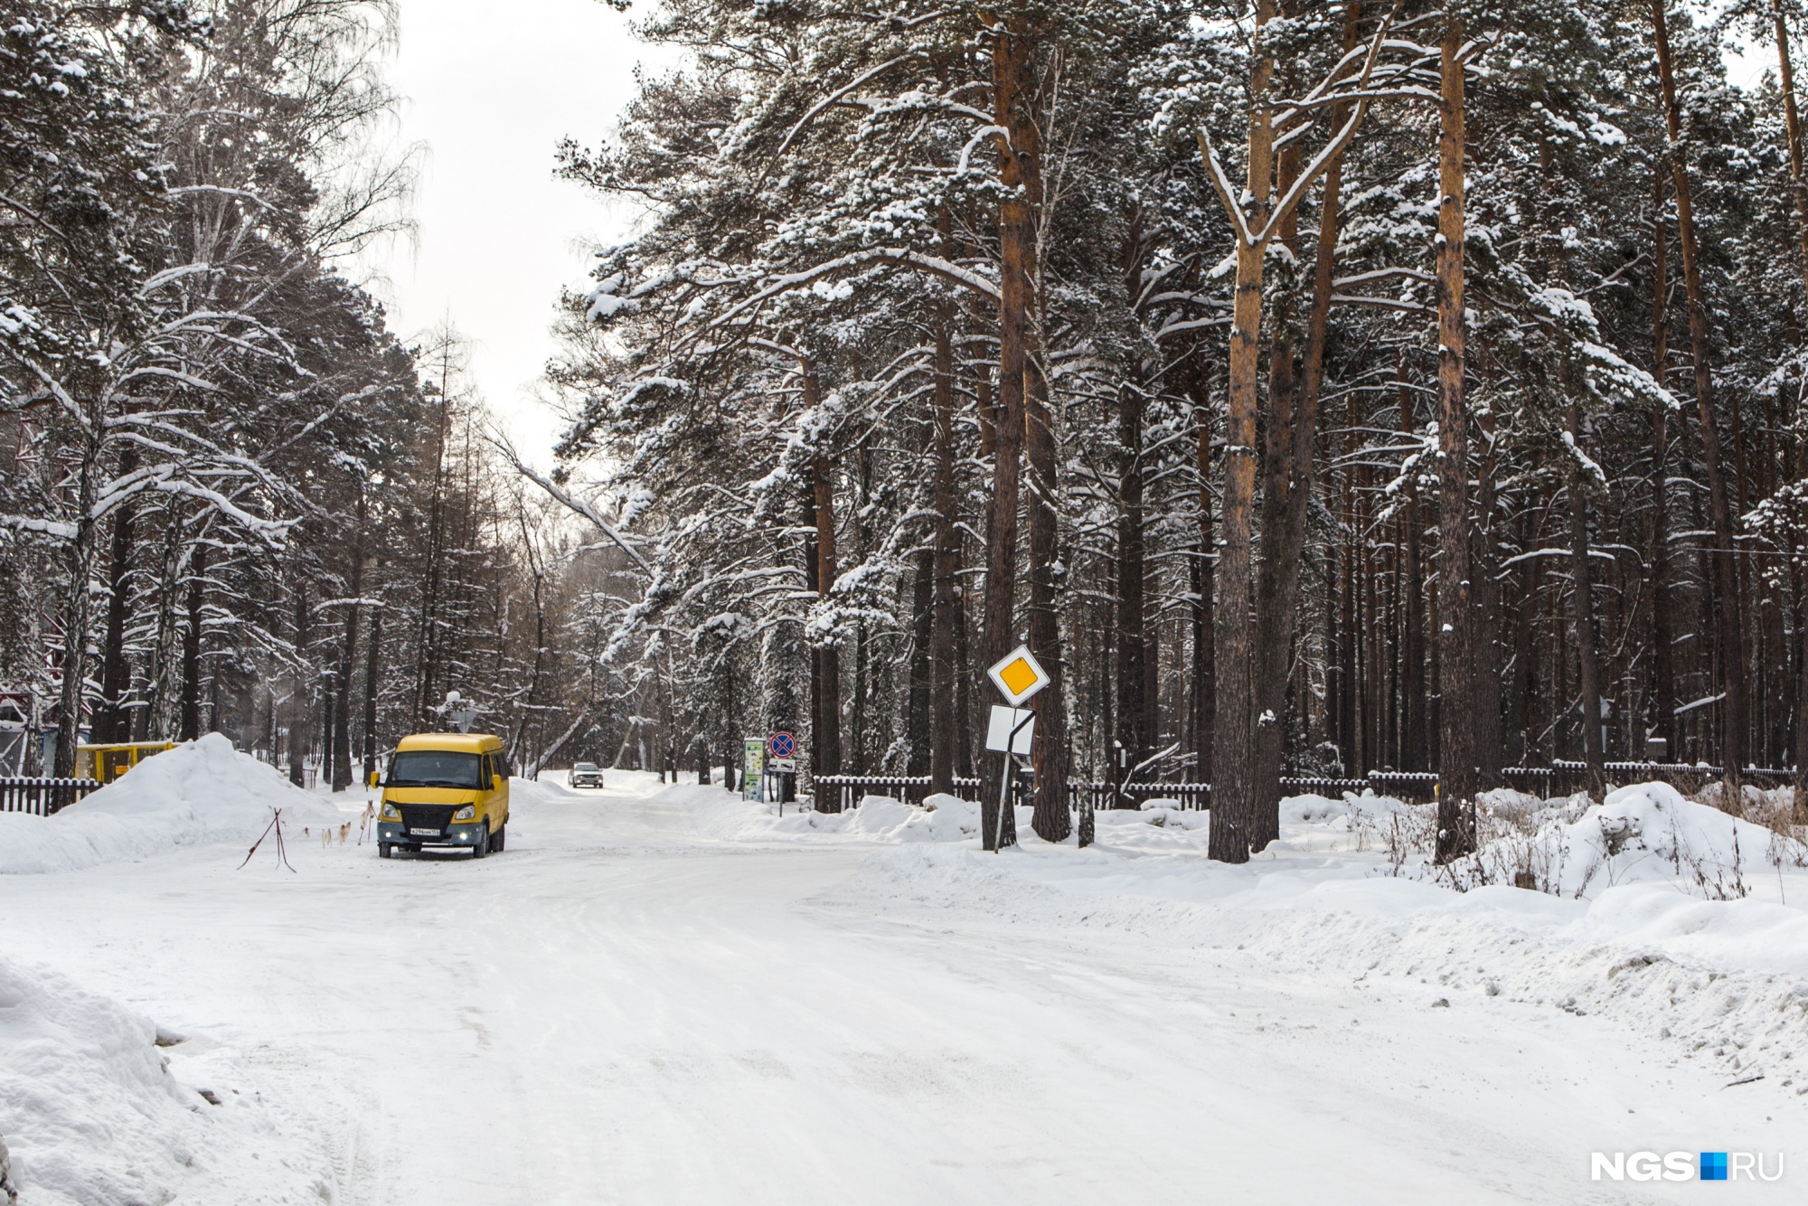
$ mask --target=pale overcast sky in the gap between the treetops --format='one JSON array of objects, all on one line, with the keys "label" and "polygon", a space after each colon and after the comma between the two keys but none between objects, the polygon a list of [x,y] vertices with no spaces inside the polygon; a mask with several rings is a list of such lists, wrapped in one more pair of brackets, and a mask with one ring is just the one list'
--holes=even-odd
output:
[{"label": "pale overcast sky in the gap between the treetops", "polygon": [[[553,179],[564,136],[595,145],[658,51],[600,0],[401,0],[389,78],[403,143],[425,143],[418,239],[374,255],[371,291],[410,336],[450,316],[474,372],[524,454],[546,459],[559,421],[535,401],[560,286],[584,282],[593,242],[631,212]],[[636,5],[638,7],[638,5]]]}]

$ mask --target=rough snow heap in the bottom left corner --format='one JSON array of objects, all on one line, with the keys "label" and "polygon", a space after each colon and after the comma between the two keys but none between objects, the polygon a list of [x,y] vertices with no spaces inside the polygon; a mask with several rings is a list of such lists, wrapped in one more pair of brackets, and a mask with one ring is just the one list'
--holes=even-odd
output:
[{"label": "rough snow heap in the bottom left corner", "polygon": [[112,1000],[0,958],[0,1135],[24,1202],[175,1197],[208,1119],[155,1034]]}]

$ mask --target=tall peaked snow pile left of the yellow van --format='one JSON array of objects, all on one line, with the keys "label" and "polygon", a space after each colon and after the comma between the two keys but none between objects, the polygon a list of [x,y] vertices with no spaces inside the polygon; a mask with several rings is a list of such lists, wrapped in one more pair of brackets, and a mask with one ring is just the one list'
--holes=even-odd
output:
[{"label": "tall peaked snow pile left of the yellow van", "polygon": [[282,810],[284,832],[347,819],[221,734],[148,758],[54,817],[0,814],[0,873],[71,872],[177,846],[246,843]]}]

